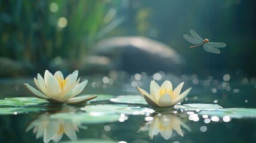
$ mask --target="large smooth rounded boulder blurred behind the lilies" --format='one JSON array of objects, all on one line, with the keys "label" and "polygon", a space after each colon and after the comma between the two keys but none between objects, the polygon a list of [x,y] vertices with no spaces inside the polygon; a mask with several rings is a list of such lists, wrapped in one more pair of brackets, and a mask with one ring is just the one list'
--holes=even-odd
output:
[{"label": "large smooth rounded boulder blurred behind the lilies", "polygon": [[[93,59],[107,59],[93,60]],[[184,65],[180,54],[168,45],[139,36],[104,39],[97,43],[87,57],[87,70],[125,70],[128,73],[177,73]],[[90,62],[91,61],[91,62]],[[106,66],[107,64],[107,66]],[[90,66],[88,66],[90,65]],[[104,68],[102,66],[104,65]],[[82,65],[81,65],[82,66]]]}]

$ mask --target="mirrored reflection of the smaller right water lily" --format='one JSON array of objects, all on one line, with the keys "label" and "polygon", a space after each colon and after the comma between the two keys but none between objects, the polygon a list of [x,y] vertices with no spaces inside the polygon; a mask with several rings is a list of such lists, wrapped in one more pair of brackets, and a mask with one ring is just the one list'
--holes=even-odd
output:
[{"label": "mirrored reflection of the smaller right water lily", "polygon": [[153,136],[161,134],[164,139],[169,139],[172,136],[172,131],[175,130],[178,135],[183,136],[184,132],[181,130],[183,128],[191,131],[189,126],[187,126],[180,117],[176,114],[156,114],[154,117],[146,117],[145,120],[148,122],[146,126],[138,130],[149,130],[150,139],[153,139]]}]

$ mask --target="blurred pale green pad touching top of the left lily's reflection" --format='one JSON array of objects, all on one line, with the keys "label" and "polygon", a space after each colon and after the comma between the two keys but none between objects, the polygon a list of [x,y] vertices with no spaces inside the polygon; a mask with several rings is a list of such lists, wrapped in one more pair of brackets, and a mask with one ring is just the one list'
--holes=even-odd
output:
[{"label": "blurred pale green pad touching top of the left lily's reflection", "polygon": [[57,113],[51,114],[51,119],[72,120],[76,123],[107,123],[119,120],[119,114],[103,113]]}]

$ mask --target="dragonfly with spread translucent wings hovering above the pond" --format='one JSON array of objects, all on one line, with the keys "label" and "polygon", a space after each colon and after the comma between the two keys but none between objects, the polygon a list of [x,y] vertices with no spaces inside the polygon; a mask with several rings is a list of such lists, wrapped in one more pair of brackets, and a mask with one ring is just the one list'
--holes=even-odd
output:
[{"label": "dragonfly with spread translucent wings hovering above the pond", "polygon": [[226,45],[226,43],[223,42],[209,42],[209,39],[202,39],[196,32],[195,30],[190,30],[190,34],[192,36],[189,35],[183,35],[183,37],[189,41],[190,43],[193,44],[197,44],[195,46],[189,46],[189,48],[196,48],[198,46],[203,45],[203,49],[205,49],[205,51],[207,52],[212,52],[214,54],[220,54],[220,50],[217,48],[224,48]]}]

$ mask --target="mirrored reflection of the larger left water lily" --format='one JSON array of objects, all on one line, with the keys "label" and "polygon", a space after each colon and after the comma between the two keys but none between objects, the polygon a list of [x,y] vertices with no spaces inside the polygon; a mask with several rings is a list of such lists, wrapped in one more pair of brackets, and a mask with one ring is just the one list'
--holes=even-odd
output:
[{"label": "mirrored reflection of the larger left water lily", "polygon": [[[69,110],[67,110],[69,108]],[[64,111],[70,111],[70,107],[64,107]],[[84,128],[80,123],[73,123],[72,120],[65,119],[52,119],[51,113],[42,113],[36,116],[26,128],[26,132],[33,128],[33,133],[36,133],[36,139],[43,137],[44,142],[60,141],[63,134],[69,136],[72,141],[77,140],[76,131],[79,132],[79,128]]]}]

